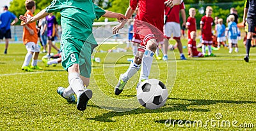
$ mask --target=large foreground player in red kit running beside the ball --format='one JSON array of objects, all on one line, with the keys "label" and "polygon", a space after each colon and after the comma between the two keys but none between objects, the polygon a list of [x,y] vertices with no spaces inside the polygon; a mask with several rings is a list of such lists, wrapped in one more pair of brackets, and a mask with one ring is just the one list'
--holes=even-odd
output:
[{"label": "large foreground player in red kit running beside the ball", "polygon": [[[172,8],[175,4],[180,3],[180,0],[130,0],[130,6],[127,8],[125,17],[130,18],[139,4],[139,10],[134,20],[134,34],[138,34],[141,43],[127,71],[120,74],[118,84],[115,87],[115,95],[119,95],[123,91],[127,81],[139,71],[140,66],[140,79],[137,86],[148,79],[157,43],[163,41],[164,8],[165,6]],[[122,29],[126,22],[116,25],[113,34]]]}]

